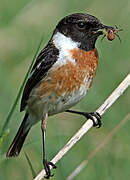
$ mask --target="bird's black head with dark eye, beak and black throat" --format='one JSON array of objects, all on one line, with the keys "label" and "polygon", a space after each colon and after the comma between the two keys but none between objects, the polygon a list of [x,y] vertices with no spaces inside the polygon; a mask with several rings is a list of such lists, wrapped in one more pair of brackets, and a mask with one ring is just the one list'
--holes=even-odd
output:
[{"label": "bird's black head with dark eye, beak and black throat", "polygon": [[56,26],[54,33],[60,32],[73,41],[80,43],[80,48],[92,50],[99,35],[103,34],[103,29],[112,28],[103,25],[96,17],[75,13],[64,17]]}]

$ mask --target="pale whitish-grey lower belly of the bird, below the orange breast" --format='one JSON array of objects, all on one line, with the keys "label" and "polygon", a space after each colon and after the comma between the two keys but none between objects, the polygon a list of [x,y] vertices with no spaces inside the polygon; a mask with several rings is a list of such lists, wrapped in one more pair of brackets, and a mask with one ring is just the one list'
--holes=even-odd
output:
[{"label": "pale whitish-grey lower belly of the bird, below the orange breast", "polygon": [[41,120],[46,113],[51,116],[64,112],[77,104],[85,95],[86,85],[82,85],[78,91],[73,92],[71,95],[57,96],[51,94],[39,100],[33,96],[33,98],[30,98],[27,108],[32,119],[32,124]]}]

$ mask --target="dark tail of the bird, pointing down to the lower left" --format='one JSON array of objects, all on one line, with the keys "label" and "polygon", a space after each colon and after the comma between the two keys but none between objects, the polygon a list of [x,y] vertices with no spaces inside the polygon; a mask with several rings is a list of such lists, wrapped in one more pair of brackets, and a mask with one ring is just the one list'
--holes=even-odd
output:
[{"label": "dark tail of the bird, pointing down to the lower left", "polygon": [[27,127],[28,126],[27,119],[28,119],[28,114],[25,114],[22,124],[20,125],[20,128],[13,142],[6,153],[6,157],[15,157],[19,155],[21,148],[23,146],[23,143],[25,141],[25,138],[30,130],[30,127]]}]

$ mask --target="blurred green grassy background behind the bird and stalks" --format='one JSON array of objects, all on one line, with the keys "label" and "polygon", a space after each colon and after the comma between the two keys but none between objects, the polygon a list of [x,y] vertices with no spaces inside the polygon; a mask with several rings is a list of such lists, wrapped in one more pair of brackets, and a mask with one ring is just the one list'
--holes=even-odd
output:
[{"label": "blurred green grassy background behind the bird and stalks", "polygon": [[[106,25],[123,28],[122,43],[101,37],[96,47],[100,55],[97,76],[87,96],[73,109],[94,111],[130,72],[130,1],[129,0],[0,0],[0,129],[17,96],[32,58],[44,36],[48,42],[57,22],[70,13],[85,12],[98,17]],[[41,48],[42,48],[41,47]],[[103,126],[93,128],[57,164],[53,180],[64,180],[72,170],[130,112],[130,89],[103,116]],[[40,123],[32,128],[18,158],[5,159],[9,144],[18,130],[24,113],[19,104],[8,125],[10,130],[0,147],[0,180],[29,180],[31,170],[27,153],[36,173],[42,169],[42,138]],[[61,113],[50,117],[47,127],[48,159],[85,122],[83,117]],[[122,180],[130,178],[130,122],[113,136],[75,180]]]}]

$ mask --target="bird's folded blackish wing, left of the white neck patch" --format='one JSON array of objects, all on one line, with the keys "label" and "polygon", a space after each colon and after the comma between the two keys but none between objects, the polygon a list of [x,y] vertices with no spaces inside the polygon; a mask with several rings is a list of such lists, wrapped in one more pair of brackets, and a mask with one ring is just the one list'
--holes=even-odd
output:
[{"label": "bird's folded blackish wing, left of the white neck patch", "polygon": [[46,76],[58,54],[58,49],[51,42],[40,52],[24,87],[20,111],[25,109],[31,90]]}]

